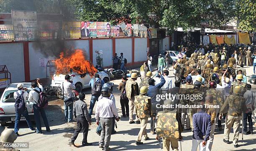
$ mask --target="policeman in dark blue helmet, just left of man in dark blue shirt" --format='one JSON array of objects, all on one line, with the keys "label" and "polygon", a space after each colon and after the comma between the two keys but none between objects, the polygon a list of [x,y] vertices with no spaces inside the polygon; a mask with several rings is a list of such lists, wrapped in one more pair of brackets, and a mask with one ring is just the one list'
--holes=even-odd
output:
[{"label": "policeman in dark blue helmet, just left of man in dark blue shirt", "polygon": [[[193,93],[193,88],[194,88],[194,86],[192,85],[192,77],[187,76],[186,84],[182,84],[180,86],[180,94],[182,94],[184,96],[191,95]],[[182,105],[187,105],[189,103],[189,99],[182,98],[180,102]],[[179,110],[180,110],[180,108],[179,108]],[[190,119],[189,119],[188,113],[189,113],[188,108],[182,108],[182,119],[181,119],[182,129],[184,128],[185,119],[186,119],[186,128],[189,131],[191,129],[191,127],[190,127]]]}]

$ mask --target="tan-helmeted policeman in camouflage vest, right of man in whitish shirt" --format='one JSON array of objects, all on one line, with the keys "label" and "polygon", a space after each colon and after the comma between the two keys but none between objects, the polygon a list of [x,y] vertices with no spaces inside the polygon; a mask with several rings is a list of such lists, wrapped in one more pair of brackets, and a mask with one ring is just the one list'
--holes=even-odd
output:
[{"label": "tan-helmeted policeman in camouflage vest, right of man in whitish shirt", "polygon": [[[151,114],[151,98],[146,96],[148,92],[147,86],[142,86],[140,89],[140,95],[135,96],[134,104],[136,106],[136,114],[141,122],[141,130],[138,133],[138,137],[136,139],[136,145],[142,145],[141,138],[144,135],[144,140],[148,140],[148,134],[146,132],[146,126],[148,123],[148,118],[153,117]],[[154,117],[153,117],[154,118]]]}]

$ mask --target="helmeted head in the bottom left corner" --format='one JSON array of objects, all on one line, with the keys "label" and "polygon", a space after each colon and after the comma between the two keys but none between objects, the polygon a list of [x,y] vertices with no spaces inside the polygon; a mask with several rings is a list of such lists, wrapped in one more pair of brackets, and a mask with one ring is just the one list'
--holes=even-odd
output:
[{"label": "helmeted head in the bottom left corner", "polygon": [[20,151],[18,149],[14,149],[13,147],[11,147],[11,145],[7,144],[9,143],[14,143],[14,141],[16,140],[17,135],[15,134],[15,132],[12,129],[5,129],[2,133],[1,133],[1,143],[0,143],[0,150],[1,151]]}]

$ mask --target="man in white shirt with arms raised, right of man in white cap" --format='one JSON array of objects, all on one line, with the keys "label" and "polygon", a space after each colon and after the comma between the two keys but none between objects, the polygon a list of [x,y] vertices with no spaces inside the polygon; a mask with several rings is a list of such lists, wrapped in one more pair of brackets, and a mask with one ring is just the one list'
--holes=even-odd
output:
[{"label": "man in white shirt with arms raised, right of man in white cap", "polygon": [[37,81],[31,82],[31,87],[33,89],[28,94],[28,101],[33,103],[33,112],[34,112],[34,118],[36,121],[36,133],[43,133],[42,127],[41,127],[40,115],[43,118],[46,131],[51,131],[51,130],[49,127],[49,123],[48,123],[44,108],[39,108],[37,105],[39,101],[39,93],[43,91],[43,86],[41,86],[39,81],[40,79],[38,78]]}]

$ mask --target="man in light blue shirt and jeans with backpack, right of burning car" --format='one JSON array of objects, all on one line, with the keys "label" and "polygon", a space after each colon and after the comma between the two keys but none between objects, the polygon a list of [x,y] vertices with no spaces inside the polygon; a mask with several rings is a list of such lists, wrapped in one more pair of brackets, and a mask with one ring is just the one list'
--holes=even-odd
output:
[{"label": "man in light blue shirt and jeans with backpack, right of burning car", "polygon": [[[92,78],[89,82],[89,86],[92,86],[93,88],[93,85],[95,84],[95,82],[100,82],[101,83],[101,88],[103,86],[103,84],[105,83],[103,80],[100,79],[100,75],[99,74],[95,74],[94,76],[95,78]],[[94,108],[94,105],[96,103],[96,101],[98,101],[98,98],[99,98],[100,94],[99,95],[93,95],[91,96],[91,101],[90,101],[90,108],[89,108],[89,116],[90,118],[92,118],[92,111],[93,111],[93,108]]]}]

